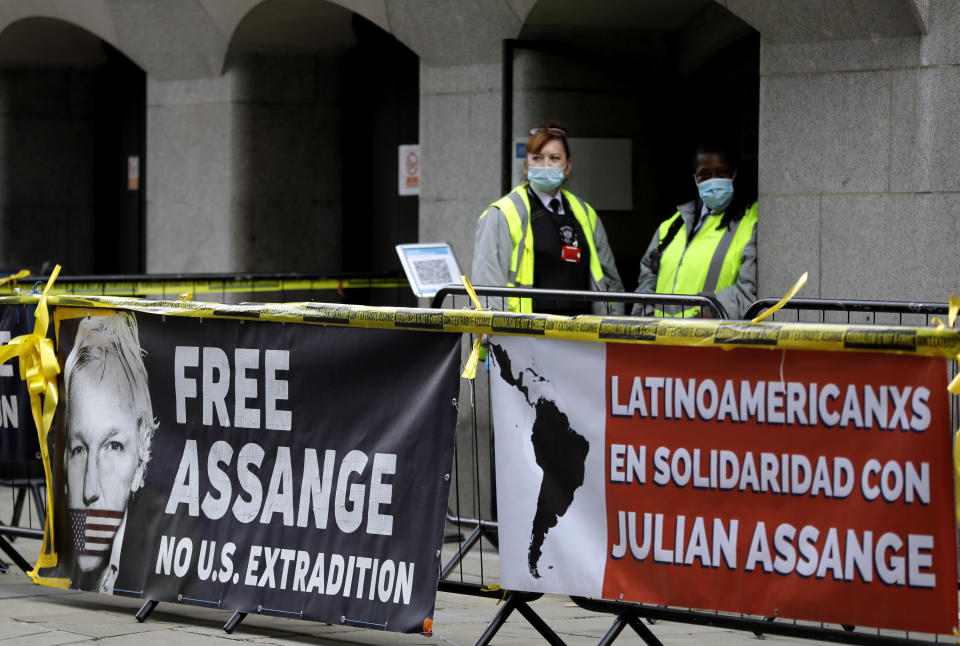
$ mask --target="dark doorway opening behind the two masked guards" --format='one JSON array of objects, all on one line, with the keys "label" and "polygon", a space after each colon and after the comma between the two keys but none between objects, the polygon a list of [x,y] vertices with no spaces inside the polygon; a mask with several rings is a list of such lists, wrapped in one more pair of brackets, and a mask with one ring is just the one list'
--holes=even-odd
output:
[{"label": "dark doorway opening behind the two masked guards", "polygon": [[[573,138],[629,140],[628,159],[576,159],[573,151],[581,167],[630,164],[632,208],[594,204],[628,291],[659,223],[696,196],[692,157],[703,140],[739,152],[736,190],[756,197],[760,36],[724,7],[541,0],[520,36],[505,47],[504,175],[511,146],[546,119]],[[576,180],[575,164],[574,192]]]}]

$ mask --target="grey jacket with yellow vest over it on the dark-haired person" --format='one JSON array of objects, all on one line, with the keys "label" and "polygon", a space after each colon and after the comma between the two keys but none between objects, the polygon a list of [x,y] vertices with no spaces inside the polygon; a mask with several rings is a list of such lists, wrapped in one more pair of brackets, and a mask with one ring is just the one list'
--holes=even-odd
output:
[{"label": "grey jacket with yellow vest over it on the dark-haired person", "polygon": [[[640,263],[636,291],[716,296],[730,317],[739,318],[757,299],[757,203],[730,227],[720,226],[723,213],[711,214],[691,236],[697,207],[696,201],[683,204],[661,223]],[[683,226],[662,250],[659,269],[654,271],[657,263],[652,258],[660,240],[678,218]],[[635,314],[638,309],[634,308]]]}]

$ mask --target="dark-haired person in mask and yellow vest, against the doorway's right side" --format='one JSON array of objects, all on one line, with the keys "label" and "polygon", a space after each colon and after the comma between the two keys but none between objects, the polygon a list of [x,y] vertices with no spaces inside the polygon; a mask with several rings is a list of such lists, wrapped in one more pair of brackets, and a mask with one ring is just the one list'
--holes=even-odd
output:
[{"label": "dark-haired person in mask and yellow vest, against the doorway's right side", "polygon": [[[640,262],[636,291],[715,296],[731,318],[757,299],[757,203],[734,190],[733,157],[703,144],[694,155],[697,199],[657,229]],[[700,308],[635,305],[633,315],[708,316]]]}]

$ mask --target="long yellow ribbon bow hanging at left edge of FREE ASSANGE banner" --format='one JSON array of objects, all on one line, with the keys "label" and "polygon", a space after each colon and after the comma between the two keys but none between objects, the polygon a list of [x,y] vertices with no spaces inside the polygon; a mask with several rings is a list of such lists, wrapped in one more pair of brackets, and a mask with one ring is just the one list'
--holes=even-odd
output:
[{"label": "long yellow ribbon bow hanging at left edge of FREE ASSANGE banner", "polygon": [[54,567],[57,564],[57,553],[53,547],[53,491],[50,488],[50,451],[47,448],[47,434],[50,432],[50,424],[53,422],[53,413],[57,409],[59,399],[57,375],[60,374],[60,364],[57,362],[53,341],[47,338],[47,329],[50,326],[47,294],[59,274],[60,265],[57,265],[40,295],[40,302],[37,303],[33,333],[18,336],[11,339],[7,345],[0,347],[0,363],[5,363],[14,357],[20,359],[20,378],[27,383],[27,391],[30,393],[30,409],[33,412],[33,422],[37,426],[40,456],[43,458],[43,472],[47,481],[47,514],[44,520],[43,544],[37,563],[28,574],[34,583],[66,588],[70,585],[69,579],[41,577],[39,574],[40,568]]}]

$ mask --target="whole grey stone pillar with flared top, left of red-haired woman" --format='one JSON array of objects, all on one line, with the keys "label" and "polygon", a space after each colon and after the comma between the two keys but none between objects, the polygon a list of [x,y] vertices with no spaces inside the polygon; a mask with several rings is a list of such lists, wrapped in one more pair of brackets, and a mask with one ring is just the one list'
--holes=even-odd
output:
[{"label": "whole grey stone pillar with flared top, left of red-haired woman", "polygon": [[[450,242],[469,273],[477,218],[501,194],[502,42],[517,37],[532,3],[456,3],[453,11],[451,4],[393,0],[387,12],[394,35],[420,56],[420,240]],[[451,503],[463,517],[490,518],[492,429],[483,365],[476,393],[465,380],[461,386]]]}]

